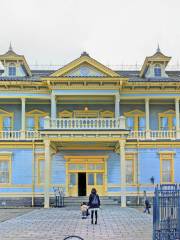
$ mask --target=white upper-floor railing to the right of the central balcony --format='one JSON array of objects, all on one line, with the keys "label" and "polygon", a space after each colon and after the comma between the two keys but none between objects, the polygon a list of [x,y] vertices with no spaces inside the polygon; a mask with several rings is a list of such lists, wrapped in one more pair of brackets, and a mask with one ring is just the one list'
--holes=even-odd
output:
[{"label": "white upper-floor railing to the right of the central balcony", "polygon": [[149,130],[149,131],[131,131],[128,136],[129,139],[139,140],[156,140],[156,139],[176,139],[176,131],[162,131],[162,130]]}]

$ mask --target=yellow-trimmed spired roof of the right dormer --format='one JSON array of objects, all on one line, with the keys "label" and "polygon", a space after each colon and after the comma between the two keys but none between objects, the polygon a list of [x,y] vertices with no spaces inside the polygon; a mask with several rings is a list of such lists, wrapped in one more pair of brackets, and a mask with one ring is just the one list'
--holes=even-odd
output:
[{"label": "yellow-trimmed spired roof of the right dormer", "polygon": [[164,55],[161,52],[159,45],[158,45],[156,53],[152,56],[145,58],[145,61],[143,63],[141,71],[140,71],[140,77],[144,77],[144,75],[146,74],[147,69],[151,63],[164,63],[165,66],[167,66],[167,64],[169,63],[170,60],[171,60],[171,57]]}]

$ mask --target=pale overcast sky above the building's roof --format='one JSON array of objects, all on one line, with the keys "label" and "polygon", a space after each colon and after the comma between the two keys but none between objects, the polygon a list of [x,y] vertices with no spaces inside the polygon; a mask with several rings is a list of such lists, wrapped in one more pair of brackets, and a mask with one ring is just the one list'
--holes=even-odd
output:
[{"label": "pale overcast sky above the building's roof", "polygon": [[180,61],[180,0],[0,0],[0,23],[0,54],[11,41],[30,65],[142,64],[158,42]]}]

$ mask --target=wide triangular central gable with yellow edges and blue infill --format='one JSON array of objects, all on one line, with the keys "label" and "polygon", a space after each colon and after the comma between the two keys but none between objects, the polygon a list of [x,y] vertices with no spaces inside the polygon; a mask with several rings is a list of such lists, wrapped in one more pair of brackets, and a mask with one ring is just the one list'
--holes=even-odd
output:
[{"label": "wide triangular central gable with yellow edges and blue infill", "polygon": [[120,77],[120,75],[83,52],[79,58],[60,68],[50,77]]}]

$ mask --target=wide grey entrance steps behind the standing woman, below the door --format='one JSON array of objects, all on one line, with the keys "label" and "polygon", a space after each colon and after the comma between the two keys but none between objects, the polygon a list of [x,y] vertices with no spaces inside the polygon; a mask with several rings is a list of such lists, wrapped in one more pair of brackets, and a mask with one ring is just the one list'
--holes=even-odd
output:
[{"label": "wide grey entrance steps behind the standing woman, below the door", "polygon": [[[64,205],[65,206],[80,206],[82,202],[88,202],[89,197],[65,197]],[[100,197],[101,205],[118,205],[119,198],[118,197]]]}]

